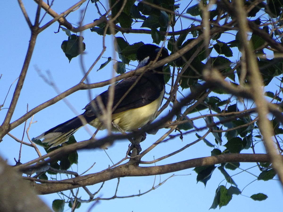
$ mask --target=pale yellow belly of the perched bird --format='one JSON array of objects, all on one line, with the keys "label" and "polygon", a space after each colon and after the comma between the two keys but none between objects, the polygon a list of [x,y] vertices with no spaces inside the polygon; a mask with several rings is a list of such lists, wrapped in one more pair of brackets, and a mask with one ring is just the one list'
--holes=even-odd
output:
[{"label": "pale yellow belly of the perched bird", "polygon": [[[114,124],[117,124],[126,132],[138,129],[155,119],[156,113],[161,105],[162,99],[163,99],[163,95],[161,95],[158,99],[143,107],[134,108],[121,113],[112,114],[112,122]],[[101,122],[98,118],[96,118],[89,124],[95,128],[98,128]],[[105,127],[102,126],[100,129],[105,129]],[[112,130],[118,131],[115,127],[113,127]]]}]

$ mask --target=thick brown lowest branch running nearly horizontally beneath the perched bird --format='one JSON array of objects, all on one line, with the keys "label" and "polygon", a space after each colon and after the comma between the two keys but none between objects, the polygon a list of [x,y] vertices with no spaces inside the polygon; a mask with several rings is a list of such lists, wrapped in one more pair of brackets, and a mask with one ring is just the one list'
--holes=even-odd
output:
[{"label": "thick brown lowest branch running nearly horizontally beneath the perched bird", "polygon": [[267,154],[224,154],[210,157],[201,157],[191,160],[186,160],[178,163],[171,163],[162,166],[140,167],[136,165],[123,164],[115,168],[105,170],[100,174],[88,174],[82,177],[76,177],[72,179],[62,180],[61,183],[33,183],[35,191],[38,194],[51,194],[59,191],[66,191],[87,185],[94,185],[110,179],[118,177],[130,177],[130,176],[151,176],[166,174],[170,172],[177,172],[180,170],[198,167],[209,166],[220,163],[228,162],[269,162],[269,156]]}]

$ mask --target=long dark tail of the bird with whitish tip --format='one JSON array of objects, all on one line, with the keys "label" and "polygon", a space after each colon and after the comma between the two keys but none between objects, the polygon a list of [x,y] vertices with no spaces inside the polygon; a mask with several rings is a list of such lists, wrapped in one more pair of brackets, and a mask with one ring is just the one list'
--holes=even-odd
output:
[{"label": "long dark tail of the bird with whitish tip", "polygon": [[43,139],[42,143],[51,145],[50,148],[59,146],[68,141],[69,138],[81,127],[85,126],[88,122],[92,121],[94,117],[87,117],[84,114],[76,116],[67,122],[59,124],[56,127],[42,133],[35,139]]}]

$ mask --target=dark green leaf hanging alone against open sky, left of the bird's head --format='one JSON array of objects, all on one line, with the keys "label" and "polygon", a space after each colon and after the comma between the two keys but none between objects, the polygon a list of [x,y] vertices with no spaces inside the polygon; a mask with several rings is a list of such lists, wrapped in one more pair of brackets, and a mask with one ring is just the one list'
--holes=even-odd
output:
[{"label": "dark green leaf hanging alone against open sky, left of the bird's head", "polygon": [[68,40],[64,40],[62,42],[61,49],[70,62],[72,58],[77,57],[79,54],[85,51],[85,43],[83,43],[83,37],[72,34],[68,38]]}]

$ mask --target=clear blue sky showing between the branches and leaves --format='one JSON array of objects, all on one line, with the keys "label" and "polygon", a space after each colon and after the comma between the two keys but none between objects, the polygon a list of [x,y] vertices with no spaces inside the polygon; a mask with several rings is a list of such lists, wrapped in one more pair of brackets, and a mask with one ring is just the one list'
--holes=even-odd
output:
[{"label": "clear blue sky showing between the branches and leaves", "polygon": [[[66,4],[62,1],[55,1],[53,10],[58,13],[63,12],[65,9],[76,3],[76,1],[68,1]],[[36,3],[33,1],[23,1],[23,4],[26,7],[26,10],[31,18],[34,20],[34,14],[36,10]],[[107,4],[104,4],[107,5]],[[194,5],[194,3],[192,3]],[[85,7],[82,7],[85,8]],[[68,20],[72,24],[78,24],[80,18],[80,11],[73,12],[68,16]],[[1,69],[0,73],[3,74],[0,79],[0,103],[2,104],[5,96],[8,92],[8,88],[13,81],[18,77],[25,54],[27,51],[27,46],[30,38],[30,31],[23,18],[20,7],[16,1],[4,1],[2,2],[2,11],[0,13],[0,18],[2,20],[2,42],[0,51],[1,57]],[[94,19],[98,18],[96,9],[93,4],[90,3],[87,8],[85,21],[84,23],[90,23]],[[43,23],[49,21],[51,18],[49,15],[46,15]],[[186,24],[186,22],[184,22]],[[67,35],[60,31],[59,33],[54,33],[58,29],[58,23],[54,23],[51,27],[48,27],[45,31],[39,34],[33,57],[27,72],[26,80],[21,91],[21,95],[16,106],[15,113],[12,116],[12,121],[18,119],[23,114],[26,113],[27,104],[29,110],[33,109],[37,105],[48,101],[57,95],[57,92],[52,88],[52,86],[47,85],[44,80],[39,76],[36,70],[46,76],[46,71],[50,72],[52,75],[52,80],[54,84],[60,91],[65,91],[70,87],[76,85],[80,79],[82,79],[82,69],[80,66],[79,57],[72,59],[69,63],[68,59],[65,57],[63,51],[61,50],[61,43],[63,40],[67,40]],[[175,29],[178,30],[178,29]],[[82,33],[84,37],[84,42],[86,44],[86,50],[83,57],[85,68],[89,68],[94,60],[99,55],[102,49],[102,37],[98,36],[96,33],[91,33],[89,30],[86,30]],[[122,36],[121,34],[116,34],[116,36]],[[128,42],[130,44],[136,42],[152,43],[150,35],[147,34],[134,34],[128,35],[125,34]],[[191,38],[188,36],[188,38]],[[169,39],[169,37],[168,37]],[[227,38],[229,40],[229,38]],[[89,80],[91,83],[103,81],[110,79],[113,75],[112,65],[109,63],[102,70],[96,71],[100,64],[106,62],[107,57],[111,56],[112,58],[118,59],[114,49],[113,49],[113,37],[106,37],[106,52],[98,64],[94,67],[93,71],[89,75]],[[167,43],[166,43],[167,46]],[[232,60],[235,61],[238,55]],[[137,62],[132,62],[131,64],[137,65]],[[134,69],[134,66],[129,66],[130,69]],[[15,88],[15,83],[12,85],[11,90],[6,99],[5,105],[3,108],[7,108],[10,104],[12,98],[12,93]],[[107,89],[96,88],[91,90],[93,98]],[[78,91],[74,94],[71,94],[65,98],[68,103],[64,101],[59,101],[54,105],[40,111],[35,114],[33,121],[37,123],[32,124],[29,130],[30,137],[36,137],[42,132],[65,122],[66,120],[74,117],[77,114],[82,113],[81,109],[89,102],[88,92],[85,90]],[[69,105],[76,110],[74,113]],[[169,108],[168,108],[169,109]],[[2,123],[5,114],[5,109],[0,111],[0,122]],[[166,111],[168,112],[168,110]],[[28,120],[28,122],[30,119]],[[92,132],[95,131],[94,128],[88,127]],[[157,135],[148,135],[147,139],[141,143],[141,148],[145,150],[153,142],[159,139],[166,132],[166,129],[162,129],[158,132]],[[13,129],[10,132],[12,135],[17,138],[21,138],[23,134],[23,124]],[[97,137],[103,137],[105,131],[100,131]],[[173,133],[175,134],[175,133]],[[203,135],[204,132],[200,132],[200,135]],[[77,141],[89,139],[90,135],[85,129],[80,129],[75,134]],[[213,142],[213,137],[207,137],[208,140]],[[149,152],[143,160],[153,160],[153,157],[158,158],[163,155],[166,155],[170,152],[178,150],[185,146],[186,144],[196,140],[194,134],[184,136],[183,142],[180,139],[171,140],[169,142],[158,145],[153,151]],[[25,142],[28,142],[27,137],[24,138]],[[111,146],[107,151],[107,154],[110,156],[112,161],[118,162],[127,152],[128,141],[116,142]],[[15,142],[8,136],[5,136],[3,141],[0,143],[0,155],[7,159],[8,163],[14,165],[14,157],[17,159],[19,154],[20,144]],[[40,151],[44,153],[44,150],[40,148]],[[258,152],[264,152],[262,143],[257,145]],[[156,165],[162,165],[166,163],[174,163],[178,161],[183,161],[192,158],[206,157],[210,156],[211,148],[207,147],[203,142],[199,142],[196,145],[191,146],[185,151],[181,152],[178,155],[170,157]],[[245,152],[250,153],[250,152]],[[36,152],[27,146],[22,148],[21,162],[25,163],[37,157]],[[91,151],[80,151],[79,152],[79,166],[73,166],[73,170],[77,171],[79,174],[87,170],[93,163],[96,163],[93,168],[88,173],[95,173],[104,168],[107,168],[108,165],[112,165],[110,159],[103,150],[91,150]],[[241,168],[246,169],[254,166],[254,164],[244,164],[241,163]],[[249,170],[251,173],[259,174],[258,168],[251,168]],[[231,172],[230,174],[236,174],[241,172],[237,170]],[[208,211],[209,207],[213,202],[215,195],[215,190],[219,185],[226,185],[224,177],[220,174],[219,171],[215,170],[211,180],[208,181],[206,187],[202,183],[196,183],[196,173],[192,169],[183,170],[175,173],[165,174],[162,176],[148,176],[148,177],[127,177],[121,178],[120,185],[118,189],[118,196],[128,196],[132,194],[138,194],[139,190],[145,192],[153,186],[159,183],[159,181],[164,181],[169,178],[172,174],[175,174],[173,178],[170,178],[162,186],[157,189],[143,195],[140,197],[134,198],[123,198],[115,199],[109,201],[100,201],[99,204],[92,211]],[[59,179],[60,176],[58,175]],[[62,176],[64,178],[64,176]],[[242,190],[250,182],[254,181],[256,178],[248,173],[241,173],[233,177],[234,181],[238,184],[240,190]],[[224,180],[224,181],[223,181]],[[91,192],[97,191],[100,187],[99,185],[89,186]],[[98,194],[100,197],[107,198],[111,197],[115,193],[117,186],[117,179],[107,181],[102,188],[101,192]],[[229,185],[227,185],[227,188]],[[252,194],[264,193],[268,196],[267,200],[262,202],[256,202],[248,198]],[[69,195],[69,192],[64,192],[66,195]],[[80,194],[83,199],[87,199],[87,195],[80,188]],[[248,196],[248,197],[246,197]],[[51,206],[54,199],[61,199],[62,196],[57,194],[50,194],[45,196],[40,196],[47,205]],[[282,199],[282,187],[277,180],[271,180],[268,182],[264,181],[255,181],[248,185],[242,195],[233,196],[231,202],[228,206],[221,208],[221,211],[239,211],[239,209],[249,210],[249,211],[275,211],[278,209],[278,200]],[[82,204],[81,208],[76,211],[87,211],[91,207],[92,203]],[[65,205],[65,209],[68,209],[68,206]],[[218,210],[218,209],[217,209]],[[70,211],[70,210],[69,210]]]}]

